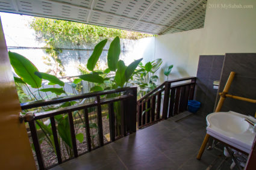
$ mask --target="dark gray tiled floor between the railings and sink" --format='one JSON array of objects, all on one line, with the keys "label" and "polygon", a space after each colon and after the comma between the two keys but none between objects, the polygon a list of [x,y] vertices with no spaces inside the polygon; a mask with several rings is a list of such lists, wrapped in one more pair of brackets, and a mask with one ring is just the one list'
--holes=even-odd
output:
[{"label": "dark gray tiled floor between the railings and sink", "polygon": [[[105,145],[52,169],[216,169],[221,151],[196,154],[205,135],[205,118],[190,115],[180,121],[165,120]],[[228,169],[224,162],[220,169]]]}]

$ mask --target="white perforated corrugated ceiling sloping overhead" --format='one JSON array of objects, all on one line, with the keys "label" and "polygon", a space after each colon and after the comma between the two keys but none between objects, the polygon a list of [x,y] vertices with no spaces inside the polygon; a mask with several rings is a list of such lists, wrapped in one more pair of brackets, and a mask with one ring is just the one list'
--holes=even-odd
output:
[{"label": "white perforated corrugated ceiling sloping overhead", "polygon": [[0,0],[0,11],[150,34],[202,28],[207,0]]}]

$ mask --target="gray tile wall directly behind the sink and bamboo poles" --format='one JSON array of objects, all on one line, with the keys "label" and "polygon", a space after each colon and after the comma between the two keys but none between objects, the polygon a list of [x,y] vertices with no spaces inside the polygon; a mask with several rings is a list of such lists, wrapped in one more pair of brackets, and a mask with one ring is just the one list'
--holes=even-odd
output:
[{"label": "gray tile wall directly behind the sink and bamboo poles", "polygon": [[[229,73],[235,71],[236,76],[228,94],[256,100],[256,53],[226,53],[223,64],[219,91],[223,91]],[[221,111],[234,111],[254,116],[256,105],[226,98]]]}]

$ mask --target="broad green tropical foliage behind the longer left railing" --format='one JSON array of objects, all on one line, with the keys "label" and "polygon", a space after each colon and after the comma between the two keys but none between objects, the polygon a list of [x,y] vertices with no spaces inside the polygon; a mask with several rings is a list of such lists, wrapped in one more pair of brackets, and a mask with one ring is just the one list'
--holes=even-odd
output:
[{"label": "broad green tropical foliage behind the longer left railing", "polygon": [[[79,78],[73,80],[73,83],[72,83],[73,88],[75,88],[76,85],[81,82],[81,80],[84,80],[84,81],[93,83],[93,87],[90,88],[90,91],[114,89],[114,88],[125,86],[128,83],[128,81],[131,79],[131,76],[133,75],[134,71],[136,70],[137,66],[139,65],[140,61],[142,61],[142,59],[138,59],[132,62],[130,65],[126,66],[124,62],[119,59],[119,55],[120,55],[119,37],[114,38],[114,40],[110,44],[110,48],[108,49],[108,56],[107,56],[108,68],[103,72],[95,70],[96,62],[98,62],[99,56],[101,55],[102,49],[104,48],[106,42],[107,42],[107,39],[102,40],[95,46],[95,49],[93,50],[93,53],[87,62],[87,69],[92,72],[87,74],[82,74],[78,76]],[[64,82],[58,79],[56,76],[48,73],[39,72],[39,70],[36,68],[36,66],[32,62],[30,62],[24,56],[19,55],[18,53],[9,52],[9,56],[10,56],[11,65],[15,73],[17,74],[17,76],[19,76],[19,77],[14,77],[14,80],[19,85],[20,84],[25,85],[25,89],[27,90],[29,96],[31,97],[31,100],[42,100],[43,97],[40,95],[40,92],[43,92],[43,93],[51,92],[51,93],[54,93],[56,96],[60,96],[60,95],[67,96],[67,93],[64,90]],[[113,74],[114,76],[111,76]],[[48,85],[52,85],[52,87],[42,88],[43,80],[47,80]],[[105,84],[107,84],[107,87]],[[56,85],[60,86],[60,88],[55,87]],[[35,94],[31,92],[30,87],[36,89],[36,93],[38,93],[39,97],[36,97]],[[113,96],[107,96],[107,97],[113,97]],[[83,102],[88,102],[88,101],[86,100],[80,101],[80,103],[83,103]],[[75,104],[76,102],[66,102],[58,106],[43,107],[42,110],[50,111],[52,109],[64,108],[66,106],[75,105]],[[119,103],[116,102],[114,106],[115,106],[114,109],[116,112],[117,124],[120,125],[120,105]],[[94,109],[92,109],[91,112],[94,112]],[[73,112],[73,117],[80,118],[81,122],[83,122],[81,115],[83,115],[83,111]],[[54,118],[58,125],[58,135],[61,138],[60,142],[62,143],[64,148],[66,148],[66,153],[70,157],[72,156],[73,152],[72,152],[71,136],[69,132],[69,121],[68,121],[67,115],[65,114],[57,115]],[[45,140],[49,144],[49,146],[52,147],[52,150],[55,151],[52,130],[51,130],[51,123],[49,123],[49,120],[37,120],[36,124],[37,124],[37,129],[40,129],[43,132],[39,136],[39,141],[42,142],[43,140]],[[85,127],[85,124],[83,124],[82,127]],[[97,128],[95,123],[90,124],[90,127]],[[76,131],[79,128],[80,126],[76,126]],[[119,131],[120,131],[119,126],[117,126],[117,133]],[[92,138],[95,138],[95,136],[96,135],[92,135]],[[80,142],[83,142],[84,141],[83,133],[76,134],[76,139],[78,139],[78,141]]]}]

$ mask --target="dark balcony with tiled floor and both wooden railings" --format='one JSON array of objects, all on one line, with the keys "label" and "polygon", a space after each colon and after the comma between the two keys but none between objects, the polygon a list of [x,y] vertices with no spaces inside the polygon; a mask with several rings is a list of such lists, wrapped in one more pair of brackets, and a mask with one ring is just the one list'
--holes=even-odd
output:
[{"label": "dark balcony with tiled floor and both wooden railings", "polygon": [[[23,117],[30,126],[29,134],[38,168],[183,169],[189,166],[209,166],[217,159],[215,152],[204,154],[201,162],[195,159],[205,135],[205,118],[186,111],[188,100],[193,99],[195,84],[196,77],[166,81],[137,100],[137,104],[136,87],[23,103],[22,109],[28,110],[60,105],[63,102],[86,101],[53,111],[41,109],[33,115],[28,113]],[[120,102],[120,124],[114,108],[117,102]],[[92,108],[95,108],[95,114]],[[78,111],[82,113],[79,117],[81,120],[77,120],[78,116],[74,114]],[[103,115],[105,111],[107,114]],[[62,115],[63,120],[67,118],[65,134],[70,135],[71,141],[70,146],[66,146],[69,148],[66,151],[63,142],[61,143],[64,138],[59,129],[58,115]],[[103,118],[107,116],[108,126],[104,126]],[[46,119],[51,125],[45,130],[39,120]],[[95,131],[90,126],[93,120],[96,123]],[[75,130],[81,124],[86,136],[83,145],[76,138],[78,132]],[[42,151],[40,133],[45,133],[52,142],[54,149],[51,157],[55,156],[56,160],[52,165],[45,163],[49,155],[46,156],[45,151]],[[95,135],[93,133],[96,133],[96,139],[92,138]],[[68,144],[67,141],[65,143]]]}]

